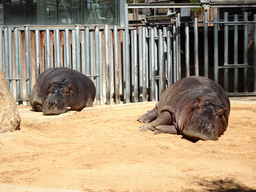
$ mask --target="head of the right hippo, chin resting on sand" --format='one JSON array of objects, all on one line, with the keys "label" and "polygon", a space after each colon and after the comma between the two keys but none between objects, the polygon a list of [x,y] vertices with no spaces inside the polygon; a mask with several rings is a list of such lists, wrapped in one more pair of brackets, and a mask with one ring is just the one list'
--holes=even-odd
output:
[{"label": "head of the right hippo, chin resting on sand", "polygon": [[228,109],[219,106],[215,99],[198,97],[191,110],[183,134],[192,140],[218,140],[228,124]]}]

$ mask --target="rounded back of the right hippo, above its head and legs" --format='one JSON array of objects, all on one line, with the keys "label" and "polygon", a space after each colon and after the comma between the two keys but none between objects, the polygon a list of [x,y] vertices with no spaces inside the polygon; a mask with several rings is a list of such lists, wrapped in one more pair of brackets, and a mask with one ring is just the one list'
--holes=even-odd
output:
[{"label": "rounded back of the right hippo, above its head and legs", "polygon": [[201,76],[182,78],[171,85],[161,96],[158,103],[159,113],[168,110],[179,113],[189,108],[197,97],[215,98],[221,106],[230,108],[230,102],[224,89],[211,79]]}]

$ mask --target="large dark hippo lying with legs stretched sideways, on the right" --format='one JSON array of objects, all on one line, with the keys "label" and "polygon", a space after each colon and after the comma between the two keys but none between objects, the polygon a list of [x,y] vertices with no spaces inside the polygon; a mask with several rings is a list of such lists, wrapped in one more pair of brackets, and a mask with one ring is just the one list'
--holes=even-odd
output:
[{"label": "large dark hippo lying with legs stretched sideways, on the right", "polygon": [[138,118],[141,131],[181,134],[189,140],[218,140],[228,126],[230,101],[205,77],[185,77],[162,94],[155,108]]}]

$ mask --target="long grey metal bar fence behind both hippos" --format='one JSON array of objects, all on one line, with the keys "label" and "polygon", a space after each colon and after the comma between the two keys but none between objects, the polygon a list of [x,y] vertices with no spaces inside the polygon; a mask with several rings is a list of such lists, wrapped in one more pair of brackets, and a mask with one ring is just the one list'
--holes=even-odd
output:
[{"label": "long grey metal bar fence behind both hippos", "polygon": [[[126,11],[128,9],[126,8]],[[38,75],[69,67],[95,83],[95,103],[159,100],[178,79],[201,75],[229,95],[256,95],[256,16],[142,27],[0,28],[0,69],[17,102],[27,102]],[[199,26],[199,24],[201,24]]]}]

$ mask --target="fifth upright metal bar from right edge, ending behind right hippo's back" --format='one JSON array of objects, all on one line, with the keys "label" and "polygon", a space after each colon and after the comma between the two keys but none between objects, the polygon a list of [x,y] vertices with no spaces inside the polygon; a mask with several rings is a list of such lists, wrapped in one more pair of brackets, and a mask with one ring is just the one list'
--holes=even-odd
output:
[{"label": "fifth upright metal bar from right edge, ending behind right hippo's back", "polygon": [[[214,16],[214,21],[218,21],[218,16]],[[219,77],[219,71],[218,71],[218,66],[219,66],[219,51],[218,51],[218,28],[219,25],[217,23],[214,24],[214,81],[218,83],[218,77]]]}]

